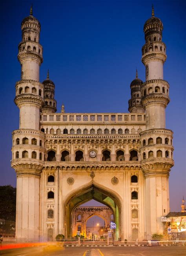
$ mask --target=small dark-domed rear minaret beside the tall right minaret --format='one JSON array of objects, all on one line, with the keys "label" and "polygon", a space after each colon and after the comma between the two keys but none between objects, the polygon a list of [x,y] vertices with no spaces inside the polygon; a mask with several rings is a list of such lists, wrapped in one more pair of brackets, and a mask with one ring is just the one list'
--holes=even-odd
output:
[{"label": "small dark-domed rear minaret beside the tall right minaret", "polygon": [[131,99],[129,99],[130,113],[144,113],[144,107],[141,104],[141,85],[143,81],[138,78],[138,71],[136,69],[136,78],[131,82]]}]

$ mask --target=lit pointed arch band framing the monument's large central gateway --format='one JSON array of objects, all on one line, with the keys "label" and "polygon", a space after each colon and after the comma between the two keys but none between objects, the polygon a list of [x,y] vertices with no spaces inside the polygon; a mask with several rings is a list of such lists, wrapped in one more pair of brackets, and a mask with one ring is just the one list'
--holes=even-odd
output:
[{"label": "lit pointed arch band framing the monument's large central gateway", "polygon": [[80,204],[94,199],[112,209],[116,222],[116,238],[122,238],[122,200],[119,194],[96,182],[90,182],[67,195],[63,204],[63,234],[72,236],[73,211]]}]

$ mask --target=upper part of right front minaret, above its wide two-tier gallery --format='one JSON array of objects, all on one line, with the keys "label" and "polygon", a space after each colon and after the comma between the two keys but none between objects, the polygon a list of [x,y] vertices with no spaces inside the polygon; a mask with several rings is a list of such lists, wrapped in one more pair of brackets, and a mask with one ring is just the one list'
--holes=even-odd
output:
[{"label": "upper part of right front minaret, above its wide two-tier gallery", "polygon": [[[152,16],[144,24],[146,43],[142,47],[142,63],[146,68],[146,82],[142,85],[142,105],[146,109],[146,129],[165,128],[165,108],[169,99],[169,84],[163,80],[166,45],[162,42],[163,24]],[[157,118],[158,117],[158,118]]]}]

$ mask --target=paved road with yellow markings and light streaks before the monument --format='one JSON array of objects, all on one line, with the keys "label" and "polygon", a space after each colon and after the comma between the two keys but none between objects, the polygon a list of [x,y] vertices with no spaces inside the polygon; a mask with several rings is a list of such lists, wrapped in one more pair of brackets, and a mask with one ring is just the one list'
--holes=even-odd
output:
[{"label": "paved road with yellow markings and light streaks before the monument", "polygon": [[1,250],[0,256],[186,256],[186,247],[31,247]]}]

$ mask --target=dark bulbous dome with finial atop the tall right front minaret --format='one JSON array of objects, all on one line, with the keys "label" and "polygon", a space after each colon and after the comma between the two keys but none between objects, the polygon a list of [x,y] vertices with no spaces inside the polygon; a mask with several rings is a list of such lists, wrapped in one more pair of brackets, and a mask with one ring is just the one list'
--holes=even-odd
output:
[{"label": "dark bulbous dome with finial atop the tall right front minaret", "polygon": [[145,22],[143,30],[144,30],[144,33],[148,33],[149,31],[162,32],[163,30],[163,24],[161,20],[154,16],[153,6],[152,6],[152,16]]}]

